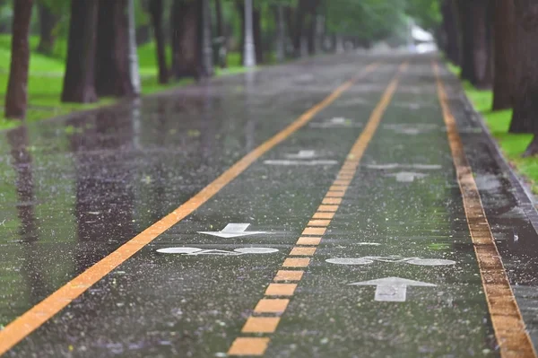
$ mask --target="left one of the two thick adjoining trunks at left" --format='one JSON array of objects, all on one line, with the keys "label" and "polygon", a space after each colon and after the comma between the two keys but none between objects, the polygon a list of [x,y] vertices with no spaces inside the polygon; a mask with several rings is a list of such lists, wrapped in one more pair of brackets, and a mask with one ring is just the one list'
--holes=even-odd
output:
[{"label": "left one of the two thick adjoining trunks at left", "polygon": [[71,0],[71,19],[62,101],[91,103],[95,92],[95,39],[98,2]]}]

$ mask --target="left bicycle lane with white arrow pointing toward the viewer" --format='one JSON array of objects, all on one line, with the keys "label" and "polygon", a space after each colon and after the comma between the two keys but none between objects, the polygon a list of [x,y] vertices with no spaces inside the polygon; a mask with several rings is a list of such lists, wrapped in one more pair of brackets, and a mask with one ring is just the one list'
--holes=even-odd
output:
[{"label": "left bicycle lane with white arrow pointing toward the viewer", "polygon": [[[334,107],[313,119],[308,128],[315,130],[302,128],[291,135],[11,353],[207,356],[225,352],[243,323],[242,316],[259,299],[259,288],[270,281],[267,277],[274,275],[310,212],[321,202],[338,170],[336,164],[343,161],[362,130],[361,120],[368,117],[394,73],[395,65],[387,65],[361,79]],[[354,120],[346,120],[349,115]],[[327,127],[338,130],[327,132]],[[291,164],[265,162],[271,160]],[[230,232],[199,233],[220,231],[229,223],[249,223],[244,227],[247,231],[268,232],[231,235],[235,238],[230,238]],[[237,225],[233,229],[241,231]],[[191,249],[156,252],[177,246]],[[256,254],[248,249],[252,247],[270,252]],[[216,249],[226,252],[211,251]]]}]

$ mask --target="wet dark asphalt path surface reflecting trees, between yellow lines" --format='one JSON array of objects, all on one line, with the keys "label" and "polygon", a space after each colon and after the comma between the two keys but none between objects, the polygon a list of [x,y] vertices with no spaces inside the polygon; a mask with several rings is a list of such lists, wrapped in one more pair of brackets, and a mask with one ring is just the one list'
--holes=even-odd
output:
[{"label": "wet dark asphalt path surface reflecting trees, between yellow lines", "polygon": [[[241,334],[405,60],[410,66],[278,327]],[[239,336],[269,336],[267,357],[499,356],[430,60],[319,57],[4,132],[0,327],[379,63],[5,355],[221,357]],[[442,75],[536,345],[535,210],[454,78]],[[265,232],[199,233],[229,223]],[[157,252],[167,248],[183,253]],[[379,286],[352,285],[387,277],[423,285],[407,287],[398,302],[376,301]]]}]

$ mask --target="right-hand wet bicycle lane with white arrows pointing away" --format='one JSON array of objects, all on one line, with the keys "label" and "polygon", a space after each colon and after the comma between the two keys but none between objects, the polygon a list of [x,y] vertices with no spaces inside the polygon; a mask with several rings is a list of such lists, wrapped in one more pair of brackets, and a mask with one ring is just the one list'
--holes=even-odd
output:
[{"label": "right-hand wet bicycle lane with white arrows pointing away", "polygon": [[436,77],[413,64],[267,356],[534,357],[522,322],[493,306],[496,339]]}]

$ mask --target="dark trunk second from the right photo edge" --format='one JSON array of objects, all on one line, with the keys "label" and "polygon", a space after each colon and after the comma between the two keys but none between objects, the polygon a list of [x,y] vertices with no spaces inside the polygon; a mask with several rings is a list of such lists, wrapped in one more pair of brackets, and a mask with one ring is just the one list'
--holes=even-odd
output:
[{"label": "dark trunk second from the right photo edge", "polygon": [[493,110],[512,107],[514,78],[514,5],[511,0],[495,2],[493,26],[495,36],[495,75],[493,84]]}]

